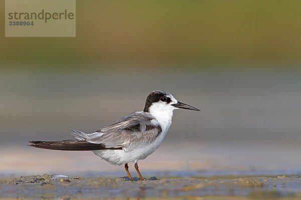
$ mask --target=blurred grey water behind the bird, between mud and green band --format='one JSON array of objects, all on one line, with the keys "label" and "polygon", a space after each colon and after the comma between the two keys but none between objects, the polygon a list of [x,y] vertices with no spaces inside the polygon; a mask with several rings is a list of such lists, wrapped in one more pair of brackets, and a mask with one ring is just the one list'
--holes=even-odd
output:
[{"label": "blurred grey water behind the bird, between mud and green band", "polygon": [[91,132],[108,125],[143,109],[146,96],[155,89],[167,90],[201,111],[176,110],[163,146],[140,161],[141,168],[301,167],[300,71],[152,70],[0,73],[1,171],[122,171],[90,152],[31,149],[26,144],[71,138],[69,128]]}]

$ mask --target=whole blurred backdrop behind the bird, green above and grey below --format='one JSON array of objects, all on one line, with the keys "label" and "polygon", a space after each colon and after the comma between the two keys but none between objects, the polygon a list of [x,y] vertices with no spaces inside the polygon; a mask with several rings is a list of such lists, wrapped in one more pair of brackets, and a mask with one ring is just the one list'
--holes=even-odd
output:
[{"label": "whole blurred backdrop behind the bird, green above and grey below", "polygon": [[76,37],[5,37],[0,1],[1,171],[66,170],[58,160],[46,168],[46,156],[59,156],[69,172],[122,171],[92,153],[79,153],[84,164],[75,152],[26,144],[71,138],[69,128],[99,129],[143,109],[155,89],[201,112],[177,110],[163,147],[141,168],[301,167],[301,1],[77,0],[76,7]]}]

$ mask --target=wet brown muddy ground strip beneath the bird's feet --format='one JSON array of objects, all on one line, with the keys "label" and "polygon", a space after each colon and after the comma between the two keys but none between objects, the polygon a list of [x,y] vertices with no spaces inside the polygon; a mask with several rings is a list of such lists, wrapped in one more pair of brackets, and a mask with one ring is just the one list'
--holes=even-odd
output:
[{"label": "wet brown muddy ground strip beneath the bird's feet", "polygon": [[299,176],[157,178],[58,177],[50,174],[0,178],[0,199],[300,199]]}]

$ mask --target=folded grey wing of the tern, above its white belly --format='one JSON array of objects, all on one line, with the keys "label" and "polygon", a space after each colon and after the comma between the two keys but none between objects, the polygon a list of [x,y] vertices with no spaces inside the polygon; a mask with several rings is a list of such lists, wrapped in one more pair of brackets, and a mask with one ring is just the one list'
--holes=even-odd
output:
[{"label": "folded grey wing of the tern, above its white belly", "polygon": [[152,116],[145,112],[133,112],[108,127],[88,134],[87,141],[102,143],[108,148],[131,148],[151,143],[161,131],[161,126]]}]

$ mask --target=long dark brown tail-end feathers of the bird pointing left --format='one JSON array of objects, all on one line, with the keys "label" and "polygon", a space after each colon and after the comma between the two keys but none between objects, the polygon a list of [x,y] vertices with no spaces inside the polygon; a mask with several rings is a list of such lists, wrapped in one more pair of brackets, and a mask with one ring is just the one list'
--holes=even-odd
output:
[{"label": "long dark brown tail-end feathers of the bird pointing left", "polygon": [[121,147],[106,148],[103,144],[90,143],[85,140],[62,140],[62,141],[29,141],[29,146],[53,150],[104,150],[120,149]]}]

